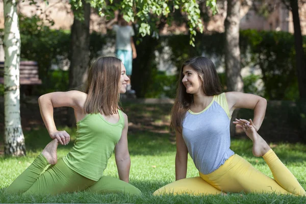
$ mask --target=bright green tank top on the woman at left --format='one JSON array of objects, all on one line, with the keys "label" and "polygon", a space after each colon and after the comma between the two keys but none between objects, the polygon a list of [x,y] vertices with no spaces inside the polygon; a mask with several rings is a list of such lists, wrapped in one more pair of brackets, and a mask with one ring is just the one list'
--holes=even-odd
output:
[{"label": "bright green tank top on the woman at left", "polygon": [[103,176],[124,127],[122,113],[120,110],[118,113],[117,123],[106,121],[100,113],[88,114],[77,122],[74,146],[63,158],[71,170],[93,181]]}]

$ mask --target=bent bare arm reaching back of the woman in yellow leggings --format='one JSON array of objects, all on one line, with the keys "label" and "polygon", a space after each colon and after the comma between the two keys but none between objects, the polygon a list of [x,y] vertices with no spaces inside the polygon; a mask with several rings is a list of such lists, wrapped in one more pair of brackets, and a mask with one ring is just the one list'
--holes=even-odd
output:
[{"label": "bent bare arm reaching back of the woman in yellow leggings", "polygon": [[228,108],[231,113],[236,108],[246,108],[254,110],[253,124],[256,131],[260,129],[266,114],[267,100],[261,96],[241,93],[241,92],[227,92],[226,98]]}]

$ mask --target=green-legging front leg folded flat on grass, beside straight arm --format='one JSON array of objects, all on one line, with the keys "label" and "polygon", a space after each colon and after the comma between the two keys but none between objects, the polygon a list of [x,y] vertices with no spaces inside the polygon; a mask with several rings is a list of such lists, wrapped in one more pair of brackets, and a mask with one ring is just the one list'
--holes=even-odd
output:
[{"label": "green-legging front leg folded flat on grass, beside straight arm", "polygon": [[99,181],[85,189],[85,191],[94,193],[141,194],[141,191],[135,186],[110,176],[102,176]]}]

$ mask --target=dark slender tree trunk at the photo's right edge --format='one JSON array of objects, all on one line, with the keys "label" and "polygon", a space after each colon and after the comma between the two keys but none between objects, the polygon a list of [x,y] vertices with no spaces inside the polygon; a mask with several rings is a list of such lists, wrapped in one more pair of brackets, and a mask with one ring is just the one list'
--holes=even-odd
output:
[{"label": "dark slender tree trunk at the photo's right edge", "polygon": [[299,96],[301,100],[306,100],[306,67],[303,50],[303,39],[301,34],[300,19],[298,13],[298,2],[297,0],[290,0],[290,7],[293,18],[294,27],[294,45],[296,52],[296,71]]}]

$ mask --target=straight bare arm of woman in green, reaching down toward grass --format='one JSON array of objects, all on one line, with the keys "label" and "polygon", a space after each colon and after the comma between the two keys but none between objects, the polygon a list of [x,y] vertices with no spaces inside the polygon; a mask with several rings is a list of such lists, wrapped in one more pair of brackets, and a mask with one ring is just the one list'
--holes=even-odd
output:
[{"label": "straight bare arm of woman in green, reaching down toward grass", "polygon": [[131,158],[129,148],[127,147],[127,129],[128,120],[126,114],[124,114],[124,128],[121,134],[121,138],[115,147],[115,158],[118,169],[119,179],[129,183]]}]

